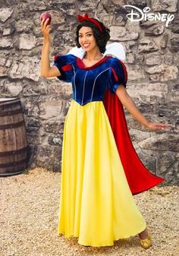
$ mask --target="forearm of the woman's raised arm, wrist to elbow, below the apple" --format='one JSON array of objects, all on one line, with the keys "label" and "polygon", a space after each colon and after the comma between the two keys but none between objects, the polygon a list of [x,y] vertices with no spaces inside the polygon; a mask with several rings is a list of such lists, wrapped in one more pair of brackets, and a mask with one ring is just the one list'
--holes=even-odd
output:
[{"label": "forearm of the woman's raised arm, wrist to elbow, below the apple", "polygon": [[41,57],[41,75],[44,77],[46,77],[49,74],[49,69],[50,69],[49,47],[50,47],[50,41],[43,40],[42,57]]}]

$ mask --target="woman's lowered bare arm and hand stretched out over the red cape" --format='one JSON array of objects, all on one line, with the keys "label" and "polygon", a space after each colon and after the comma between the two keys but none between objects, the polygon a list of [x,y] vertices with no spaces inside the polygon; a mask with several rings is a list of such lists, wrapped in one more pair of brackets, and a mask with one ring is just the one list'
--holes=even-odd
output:
[{"label": "woman's lowered bare arm and hand stretched out over the red cape", "polygon": [[133,115],[133,117],[137,119],[137,121],[140,122],[142,125],[144,125],[146,128],[149,128],[151,130],[161,130],[161,129],[163,130],[165,128],[168,128],[168,126],[170,126],[166,124],[156,124],[146,120],[145,116],[143,116],[143,114],[137,108],[137,106],[135,105],[132,98],[129,96],[129,94],[127,93],[127,90],[122,84],[118,86],[116,90],[116,94],[119,100],[121,100],[122,105],[124,105],[124,107],[128,110],[128,112],[130,112],[130,114]]}]

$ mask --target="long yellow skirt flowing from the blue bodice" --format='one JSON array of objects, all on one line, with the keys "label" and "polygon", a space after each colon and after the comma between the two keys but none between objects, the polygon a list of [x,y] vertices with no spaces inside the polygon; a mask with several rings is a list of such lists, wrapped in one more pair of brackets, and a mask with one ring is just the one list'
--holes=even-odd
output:
[{"label": "long yellow skirt flowing from the blue bodice", "polygon": [[102,101],[72,100],[64,123],[58,234],[109,246],[146,228]]}]

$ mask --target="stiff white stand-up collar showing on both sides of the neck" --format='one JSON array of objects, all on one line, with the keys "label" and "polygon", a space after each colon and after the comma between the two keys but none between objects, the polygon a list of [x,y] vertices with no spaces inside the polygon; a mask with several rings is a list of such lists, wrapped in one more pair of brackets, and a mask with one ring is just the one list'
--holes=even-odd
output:
[{"label": "stiff white stand-up collar showing on both sides of the neck", "polygon": [[[105,49],[106,50],[103,54],[103,57],[106,55],[111,55],[112,57],[121,59],[121,61],[125,61],[126,54],[124,51],[124,46],[121,43],[109,43],[105,46]],[[77,46],[75,46],[68,52],[68,54],[73,54],[82,59],[85,54],[85,50],[82,47],[77,48]]]}]

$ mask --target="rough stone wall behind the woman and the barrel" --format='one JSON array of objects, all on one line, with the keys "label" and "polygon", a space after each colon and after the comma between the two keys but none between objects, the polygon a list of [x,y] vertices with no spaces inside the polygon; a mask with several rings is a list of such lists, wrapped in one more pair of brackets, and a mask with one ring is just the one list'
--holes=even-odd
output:
[{"label": "rough stone wall behind the woman and the barrel", "polygon": [[[0,1],[0,94],[19,96],[30,144],[29,166],[61,169],[64,118],[71,103],[71,84],[57,78],[40,77],[42,33],[39,16],[52,14],[50,61],[58,52],[66,53],[74,44],[76,15],[99,18],[111,30],[111,42],[121,42],[127,52],[127,92],[140,111],[153,122],[171,124],[169,131],[148,131],[125,110],[133,146],[145,166],[178,183],[177,102],[179,3],[174,0],[97,1]],[[174,14],[165,27],[161,21],[131,22],[127,8]]]}]

